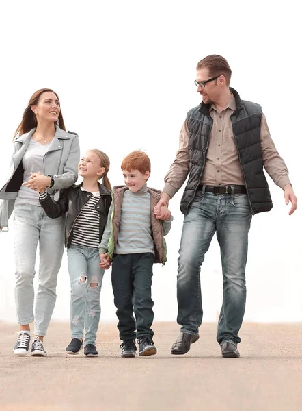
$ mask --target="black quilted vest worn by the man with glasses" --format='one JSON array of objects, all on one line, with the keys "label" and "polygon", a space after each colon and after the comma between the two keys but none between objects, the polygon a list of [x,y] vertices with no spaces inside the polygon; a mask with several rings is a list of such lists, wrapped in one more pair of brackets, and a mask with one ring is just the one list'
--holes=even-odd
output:
[{"label": "black quilted vest worn by the man with glasses", "polygon": [[[269,185],[267,184],[262,162],[260,126],[262,110],[260,105],[243,101],[234,88],[230,88],[235,100],[236,110],[231,115],[234,139],[239,161],[245,179],[247,195],[252,214],[269,211],[273,207]],[[187,214],[200,185],[204,171],[208,138],[212,129],[210,105],[201,103],[187,114],[189,130],[189,179],[180,204],[182,213]]]}]

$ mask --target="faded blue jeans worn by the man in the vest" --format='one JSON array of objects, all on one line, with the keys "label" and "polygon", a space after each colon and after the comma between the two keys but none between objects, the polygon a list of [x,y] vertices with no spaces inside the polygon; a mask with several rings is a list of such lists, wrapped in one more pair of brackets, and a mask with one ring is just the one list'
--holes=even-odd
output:
[{"label": "faded blue jeans worn by the man in the vest", "polygon": [[223,273],[223,302],[217,341],[240,343],[238,332],[245,313],[245,264],[251,208],[247,195],[197,191],[184,216],[178,258],[177,322],[181,331],[197,334],[202,324],[200,266],[212,236],[217,233]]}]

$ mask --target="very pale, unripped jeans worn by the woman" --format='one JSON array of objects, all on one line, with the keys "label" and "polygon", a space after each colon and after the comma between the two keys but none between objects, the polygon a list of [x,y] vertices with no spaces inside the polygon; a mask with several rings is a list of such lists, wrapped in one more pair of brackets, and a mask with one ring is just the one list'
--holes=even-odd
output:
[{"label": "very pale, unripped jeans worn by the woman", "polygon": [[[14,208],[16,314],[19,324],[35,320],[34,332],[45,336],[55,308],[57,273],[64,252],[64,216],[49,219],[40,206],[18,203]],[[33,278],[39,242],[40,266],[35,314]]]}]

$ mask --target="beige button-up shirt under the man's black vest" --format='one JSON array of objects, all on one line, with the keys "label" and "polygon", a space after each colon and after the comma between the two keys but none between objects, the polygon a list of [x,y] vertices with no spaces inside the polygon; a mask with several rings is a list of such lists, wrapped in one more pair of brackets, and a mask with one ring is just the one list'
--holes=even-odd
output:
[{"label": "beige button-up shirt under the man's black vest", "polygon": [[[216,110],[214,104],[210,107],[213,125],[209,136],[201,184],[208,186],[245,185],[230,119],[235,109],[234,96],[232,96],[228,105],[220,113]],[[182,125],[179,141],[180,147],[176,154],[176,160],[165,176],[165,187],[163,188],[163,191],[167,192],[170,197],[173,197],[182,184],[184,184],[189,173],[189,132],[187,121],[184,121]],[[271,139],[264,114],[262,114],[260,127],[260,142],[264,168],[273,179],[273,182],[283,189],[286,184],[290,184],[288,169]]]}]

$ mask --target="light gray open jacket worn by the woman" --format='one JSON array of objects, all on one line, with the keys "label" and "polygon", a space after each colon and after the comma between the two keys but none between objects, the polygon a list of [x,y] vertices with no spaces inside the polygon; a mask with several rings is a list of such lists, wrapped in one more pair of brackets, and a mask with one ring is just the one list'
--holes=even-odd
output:
[{"label": "light gray open jacket worn by the woman", "polygon": [[[55,199],[59,199],[59,190],[68,188],[77,181],[80,147],[77,134],[64,132],[57,125],[55,128],[55,137],[49,145],[49,151],[44,155],[43,163],[45,175],[53,175],[55,182],[47,192],[55,195]],[[14,202],[23,183],[23,155],[35,130],[32,129],[15,138],[9,175],[5,179],[5,184],[0,186],[0,229],[5,231],[8,230],[8,219],[14,210]]]}]

